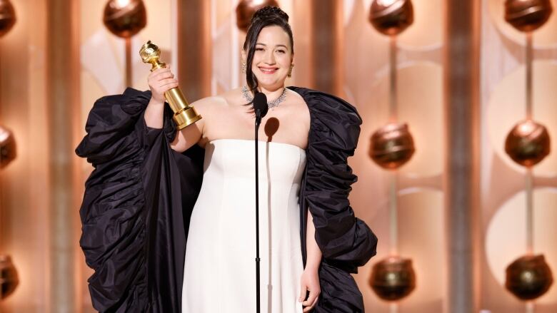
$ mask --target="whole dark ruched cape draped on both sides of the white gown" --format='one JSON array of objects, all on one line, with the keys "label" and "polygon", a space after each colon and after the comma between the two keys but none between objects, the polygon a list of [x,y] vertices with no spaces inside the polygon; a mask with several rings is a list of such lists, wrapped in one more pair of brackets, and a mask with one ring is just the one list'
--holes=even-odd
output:
[{"label": "whole dark ruched cape draped on both sides of the white gown", "polygon": [[[339,98],[292,89],[303,96],[311,116],[300,235],[305,262],[310,210],[323,252],[314,312],[363,312],[350,273],[375,255],[377,240],[348,203],[356,176],[346,163],[361,118]],[[169,108],[162,129],[147,127],[143,113],[150,98],[149,91],[128,88],[96,101],[87,135],[76,148],[95,168],[80,210],[80,245],[94,270],[89,291],[99,312],[181,311],[186,235],[201,188],[204,150],[170,148],[176,131]]]}]

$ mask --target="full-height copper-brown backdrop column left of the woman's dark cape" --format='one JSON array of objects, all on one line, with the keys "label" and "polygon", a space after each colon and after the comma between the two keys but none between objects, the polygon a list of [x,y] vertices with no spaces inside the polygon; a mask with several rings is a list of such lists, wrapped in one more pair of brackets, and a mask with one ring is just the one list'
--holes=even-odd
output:
[{"label": "full-height copper-brown backdrop column left of the woman's dark cape", "polygon": [[[81,312],[79,275],[79,197],[74,154],[79,127],[78,4],[48,0],[47,108],[51,202],[50,310]],[[99,17],[100,18],[100,17]],[[80,183],[76,183],[80,182]],[[78,190],[79,189],[79,190]]]}]

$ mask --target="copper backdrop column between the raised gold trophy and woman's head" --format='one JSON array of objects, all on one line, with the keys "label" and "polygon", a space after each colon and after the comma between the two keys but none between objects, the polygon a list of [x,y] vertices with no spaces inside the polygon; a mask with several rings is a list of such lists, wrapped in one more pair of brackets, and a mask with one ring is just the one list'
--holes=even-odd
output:
[{"label": "copper backdrop column between the raised gold trophy and woman's head", "polygon": [[211,95],[210,5],[207,0],[178,1],[178,79],[190,102]]}]

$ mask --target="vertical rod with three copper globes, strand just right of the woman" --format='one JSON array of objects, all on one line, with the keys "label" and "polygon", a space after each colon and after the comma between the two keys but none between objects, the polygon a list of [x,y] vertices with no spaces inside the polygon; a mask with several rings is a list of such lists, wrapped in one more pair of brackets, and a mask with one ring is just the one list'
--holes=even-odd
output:
[{"label": "vertical rod with three copper globes, strand just right of the woman", "polygon": [[406,123],[397,121],[398,84],[397,53],[398,34],[413,23],[413,6],[410,0],[374,0],[369,9],[369,22],[381,34],[388,36],[389,47],[389,121],[378,128],[370,138],[368,155],[374,163],[391,170],[389,182],[389,237],[390,255],[373,265],[368,284],[383,300],[394,302],[407,297],[416,288],[416,274],[412,260],[398,256],[398,169],[416,151],[414,140]]}]

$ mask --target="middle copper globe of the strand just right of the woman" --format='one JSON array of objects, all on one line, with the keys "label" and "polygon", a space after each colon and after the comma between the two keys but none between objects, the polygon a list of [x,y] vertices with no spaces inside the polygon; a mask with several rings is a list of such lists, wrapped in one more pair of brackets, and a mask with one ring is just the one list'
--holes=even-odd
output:
[{"label": "middle copper globe of the strand just right of the woman", "polygon": [[369,156],[381,168],[400,168],[412,158],[415,151],[406,123],[389,123],[371,135]]}]

